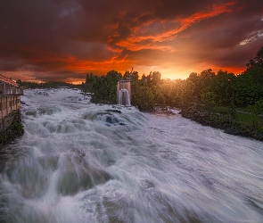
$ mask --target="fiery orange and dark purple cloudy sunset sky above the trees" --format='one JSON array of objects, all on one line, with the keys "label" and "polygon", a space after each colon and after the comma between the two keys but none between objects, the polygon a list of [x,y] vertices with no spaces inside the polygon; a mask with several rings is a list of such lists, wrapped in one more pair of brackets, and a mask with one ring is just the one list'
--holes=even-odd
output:
[{"label": "fiery orange and dark purple cloudy sunset sky above the trees", "polygon": [[0,74],[85,81],[87,73],[236,74],[263,46],[260,0],[1,0]]}]

